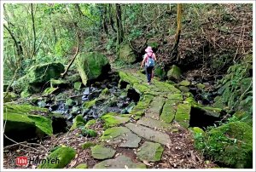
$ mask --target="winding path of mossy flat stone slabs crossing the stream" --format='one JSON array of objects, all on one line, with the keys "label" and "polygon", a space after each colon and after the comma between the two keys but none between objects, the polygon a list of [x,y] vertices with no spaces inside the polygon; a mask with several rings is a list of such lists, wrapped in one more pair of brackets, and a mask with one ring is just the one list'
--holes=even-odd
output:
[{"label": "winding path of mossy flat stone slabs crossing the stream", "polygon": [[[174,122],[189,127],[190,108],[194,101],[172,84],[155,79],[153,84],[146,84],[142,73],[119,72],[119,76],[120,83],[127,83],[127,89],[135,89],[141,99],[130,114],[108,113],[102,117],[108,129],[100,137],[101,143],[92,147],[91,152],[96,159],[108,159],[96,163],[93,168],[145,169],[144,161],[160,161],[165,146],[172,143],[168,132],[178,132]],[[135,149],[137,158],[118,153],[120,148]]]}]

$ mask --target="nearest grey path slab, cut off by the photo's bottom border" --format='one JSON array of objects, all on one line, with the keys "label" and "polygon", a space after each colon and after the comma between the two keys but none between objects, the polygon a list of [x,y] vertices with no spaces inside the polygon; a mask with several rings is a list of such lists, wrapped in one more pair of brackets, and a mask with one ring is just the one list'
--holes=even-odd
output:
[{"label": "nearest grey path slab, cut off by the photo's bottom border", "polygon": [[144,163],[133,163],[131,158],[120,155],[115,159],[108,159],[101,163],[96,163],[93,169],[146,169]]}]

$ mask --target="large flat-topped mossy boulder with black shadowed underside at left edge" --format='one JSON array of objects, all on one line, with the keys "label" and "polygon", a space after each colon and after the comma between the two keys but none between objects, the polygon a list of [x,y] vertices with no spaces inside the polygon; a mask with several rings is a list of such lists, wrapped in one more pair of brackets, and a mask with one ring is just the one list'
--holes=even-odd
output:
[{"label": "large flat-topped mossy boulder with black shadowed underside at left edge", "polygon": [[3,121],[4,123],[6,121],[4,133],[16,141],[52,135],[52,121],[43,115],[48,115],[48,109],[26,104],[4,104]]}]

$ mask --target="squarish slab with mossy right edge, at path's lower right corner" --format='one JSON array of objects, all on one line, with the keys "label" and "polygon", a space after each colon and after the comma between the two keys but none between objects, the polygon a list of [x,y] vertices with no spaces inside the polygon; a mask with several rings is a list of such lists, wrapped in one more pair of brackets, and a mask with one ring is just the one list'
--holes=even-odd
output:
[{"label": "squarish slab with mossy right edge, at path's lower right corner", "polygon": [[145,141],[143,146],[141,146],[138,150],[137,158],[142,161],[146,160],[148,162],[156,162],[161,160],[164,147],[162,147],[159,143]]}]

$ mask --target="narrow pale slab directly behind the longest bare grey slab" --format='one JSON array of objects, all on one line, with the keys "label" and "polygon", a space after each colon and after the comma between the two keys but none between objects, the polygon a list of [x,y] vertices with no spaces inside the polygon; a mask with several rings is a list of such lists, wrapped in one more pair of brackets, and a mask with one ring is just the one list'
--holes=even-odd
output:
[{"label": "narrow pale slab directly behind the longest bare grey slab", "polygon": [[155,120],[152,118],[143,117],[137,121],[138,124],[144,125],[151,129],[159,129],[159,130],[172,130],[172,125],[170,123],[165,123],[160,120]]}]

